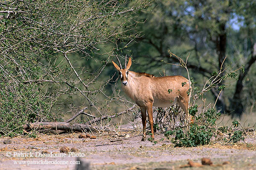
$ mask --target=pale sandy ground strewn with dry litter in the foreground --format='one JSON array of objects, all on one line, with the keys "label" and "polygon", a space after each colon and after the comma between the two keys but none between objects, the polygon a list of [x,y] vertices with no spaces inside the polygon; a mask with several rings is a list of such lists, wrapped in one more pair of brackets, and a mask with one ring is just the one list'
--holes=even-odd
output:
[{"label": "pale sandy ground strewn with dry litter in the foreground", "polygon": [[[39,134],[37,138],[10,138],[11,144],[3,144],[8,138],[0,138],[0,170],[74,170],[78,157],[90,162],[93,170],[173,170],[187,164],[188,159],[199,162],[203,157],[211,158],[214,164],[224,161],[230,161],[230,164],[201,169],[256,170],[255,132],[248,133],[245,142],[239,144],[189,148],[173,147],[163,134],[156,135],[157,144],[140,141],[142,136],[139,133],[121,135],[97,135],[96,139],[90,139],[78,138],[79,133]],[[163,141],[160,140],[162,138]],[[61,155],[60,148],[63,146],[76,147],[79,151]],[[43,150],[50,154],[41,155]]]}]

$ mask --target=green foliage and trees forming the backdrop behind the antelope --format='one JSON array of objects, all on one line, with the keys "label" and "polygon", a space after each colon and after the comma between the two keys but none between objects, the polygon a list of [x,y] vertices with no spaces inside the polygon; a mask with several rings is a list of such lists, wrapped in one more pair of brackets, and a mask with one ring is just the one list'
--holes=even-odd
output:
[{"label": "green foliage and trees forming the backdrop behind the antelope", "polygon": [[[23,124],[63,121],[88,107],[85,123],[133,105],[119,91],[111,65],[132,56],[131,70],[156,76],[186,70],[203,86],[225,65],[244,72],[216,84],[217,110],[241,117],[255,112],[256,19],[246,0],[58,0],[0,2],[0,134],[20,135]],[[123,63],[124,60],[122,60]],[[127,98],[128,99],[128,98]]]}]

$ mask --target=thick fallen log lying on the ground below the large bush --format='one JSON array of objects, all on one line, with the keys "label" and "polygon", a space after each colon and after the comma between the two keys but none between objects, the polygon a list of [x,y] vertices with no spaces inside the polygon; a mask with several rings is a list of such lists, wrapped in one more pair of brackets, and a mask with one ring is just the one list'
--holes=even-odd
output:
[{"label": "thick fallen log lying on the ground below the large bush", "polygon": [[96,130],[91,125],[85,124],[71,124],[66,122],[37,122],[28,123],[23,126],[24,130],[64,130],[67,132],[95,132]]}]

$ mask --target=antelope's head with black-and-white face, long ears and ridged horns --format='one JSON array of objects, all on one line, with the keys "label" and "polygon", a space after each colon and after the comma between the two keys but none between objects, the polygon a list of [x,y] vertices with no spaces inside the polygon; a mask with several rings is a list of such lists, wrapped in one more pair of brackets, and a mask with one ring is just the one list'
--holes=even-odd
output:
[{"label": "antelope's head with black-and-white face, long ears and ridged horns", "polygon": [[[116,58],[117,58],[117,56],[116,56]],[[125,68],[124,69],[122,68],[122,64],[121,64],[119,58],[117,58],[117,61],[119,62],[119,66],[113,60],[112,60],[112,63],[114,65],[114,67],[116,68],[116,70],[119,72],[122,84],[124,86],[126,86],[128,84],[127,80],[128,80],[129,69],[131,67],[131,58],[129,57],[128,64],[126,65],[127,56],[125,56]]]}]

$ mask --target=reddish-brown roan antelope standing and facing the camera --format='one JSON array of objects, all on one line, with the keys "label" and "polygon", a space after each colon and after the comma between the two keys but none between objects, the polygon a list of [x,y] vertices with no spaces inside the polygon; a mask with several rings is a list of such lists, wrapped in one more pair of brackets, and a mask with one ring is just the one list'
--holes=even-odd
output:
[{"label": "reddish-brown roan antelope standing and facing the camera", "polygon": [[[117,57],[116,57],[117,58]],[[143,138],[146,138],[146,112],[151,127],[151,138],[154,138],[152,106],[169,107],[177,103],[187,114],[189,103],[189,81],[180,75],[154,77],[147,73],[129,71],[131,58],[125,68],[119,62],[119,66],[112,60],[116,70],[119,72],[122,89],[140,107],[143,124]]]}]

